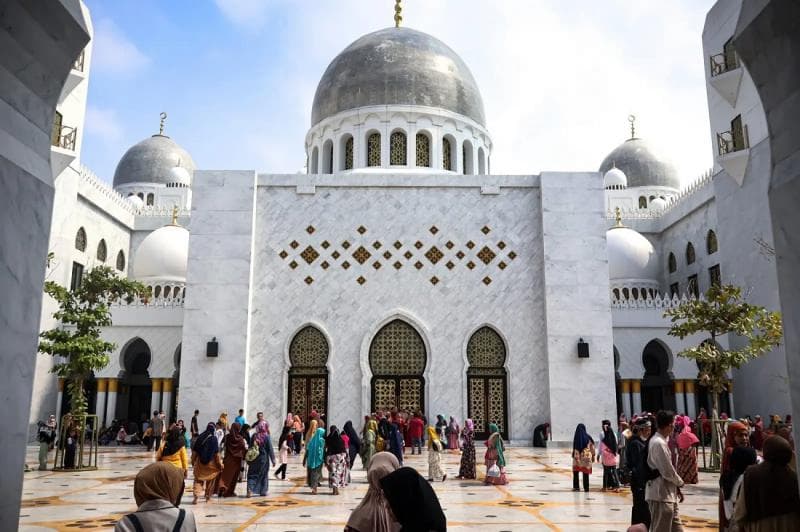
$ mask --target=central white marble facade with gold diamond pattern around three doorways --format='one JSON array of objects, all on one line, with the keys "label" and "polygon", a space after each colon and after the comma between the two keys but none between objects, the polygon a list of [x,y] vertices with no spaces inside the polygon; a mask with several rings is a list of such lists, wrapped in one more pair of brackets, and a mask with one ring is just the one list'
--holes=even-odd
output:
[{"label": "central white marble facade with gold diamond pattern around three doorways", "polygon": [[[298,193],[304,190],[298,185],[310,183],[313,194]],[[511,438],[530,439],[548,407],[536,176],[260,176],[260,184],[248,401],[253,410],[263,409],[276,421],[285,413],[288,346],[310,323],[330,342],[329,418],[358,424],[370,410],[370,342],[381,326],[399,317],[417,328],[428,348],[429,418],[444,413],[463,419],[466,344],[472,332],[489,324],[508,348]],[[491,193],[482,194],[482,187]],[[481,231],[484,226],[488,234]],[[347,250],[345,240],[351,244]],[[299,244],[296,249],[292,241]],[[327,249],[324,241],[331,244]],[[396,241],[402,244],[399,250]],[[423,243],[420,249],[417,241]],[[475,244],[472,250],[468,241]],[[300,257],[309,245],[320,253],[311,264]],[[352,255],[362,245],[371,257],[359,265]],[[445,255],[435,265],[425,257],[434,245]],[[488,265],[476,257],[484,245],[497,253]],[[387,251],[389,259],[383,256]],[[462,259],[459,251],[465,253]],[[513,260],[508,258],[512,251]],[[413,257],[405,258],[406,252]],[[376,260],[379,269],[373,266]],[[501,260],[505,269],[498,266]],[[294,270],[292,261],[298,263]],[[344,261],[350,268],[342,267]],[[399,270],[393,267],[396,261]],[[416,261],[423,264],[419,270]],[[473,270],[466,267],[470,261]],[[363,285],[357,282],[360,276],[366,279]],[[436,285],[430,282],[433,276],[439,279]],[[482,282],[486,277],[489,285]]]}]

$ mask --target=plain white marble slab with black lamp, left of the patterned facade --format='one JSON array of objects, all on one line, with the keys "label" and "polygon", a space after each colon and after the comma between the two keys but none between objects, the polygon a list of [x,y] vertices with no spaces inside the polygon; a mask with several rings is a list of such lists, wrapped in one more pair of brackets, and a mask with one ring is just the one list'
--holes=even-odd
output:
[{"label": "plain white marble slab with black lamp, left of the patterned facade", "polygon": [[255,172],[194,173],[179,418],[247,408],[255,186]]}]

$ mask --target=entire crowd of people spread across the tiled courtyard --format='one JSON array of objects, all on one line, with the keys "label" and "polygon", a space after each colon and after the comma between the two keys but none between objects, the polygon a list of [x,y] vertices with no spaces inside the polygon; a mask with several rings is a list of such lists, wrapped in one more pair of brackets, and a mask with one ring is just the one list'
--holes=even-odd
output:
[{"label": "entire crowd of people spread across the tiled courtyard", "polygon": [[[800,530],[791,416],[770,416],[766,427],[760,416],[733,420],[722,414],[720,418],[718,428],[724,433],[719,449],[720,530]],[[305,483],[312,494],[318,493],[327,476],[331,493],[338,495],[350,483],[350,472],[360,458],[369,486],[347,523],[347,530],[351,531],[396,530],[404,522],[444,530],[444,514],[429,485],[447,480],[443,453],[460,454],[457,479],[478,478],[475,424],[471,419],[464,420],[462,427],[454,417],[447,420],[439,415],[429,424],[419,412],[391,410],[364,416],[360,430],[351,420],[341,430],[336,425],[328,426],[325,415],[313,411],[307,421],[306,424],[297,414],[287,414],[277,442],[277,460],[269,423],[262,412],[256,414],[252,425],[247,423],[243,410],[232,423],[223,412],[203,431],[199,411],[194,412],[188,426],[183,420],[167,426],[164,413],[153,412],[141,431],[133,435],[125,424],[115,422],[101,433],[101,439],[115,433],[118,445],[141,444],[155,452],[156,460],[156,464],[137,475],[139,512],[121,520],[118,530],[138,530],[136,519],[146,520],[155,515],[149,512],[162,511],[165,515],[175,514],[174,519],[180,523],[176,530],[193,530],[191,512],[176,512],[175,503],[170,502],[176,496],[180,501],[190,466],[192,503],[197,504],[201,499],[210,502],[214,497],[236,496],[240,482],[246,483],[246,497],[266,496],[270,469],[275,468],[275,478],[285,480],[291,455],[302,455]],[[65,423],[68,427],[60,442],[54,416],[39,423],[40,469],[47,468],[47,453],[55,444],[64,449],[64,467],[74,466],[77,428],[70,416],[65,417]],[[631,530],[682,530],[681,488],[699,481],[698,449],[710,443],[711,424],[702,409],[695,419],[671,411],[642,413],[631,420],[623,414],[616,427],[610,420],[603,420],[594,436],[579,424],[572,446],[572,488],[589,491],[593,466],[600,464],[603,491],[619,492],[630,486]],[[545,445],[548,433],[548,423],[537,426],[534,446]],[[504,442],[496,424],[488,424],[483,447],[483,482],[506,484]],[[403,467],[407,454],[421,455],[423,448],[427,479],[415,469]],[[178,484],[180,494],[176,495]],[[427,513],[421,514],[416,510],[419,508],[425,508]],[[141,512],[148,513],[141,516]],[[442,528],[438,528],[440,525]]]}]

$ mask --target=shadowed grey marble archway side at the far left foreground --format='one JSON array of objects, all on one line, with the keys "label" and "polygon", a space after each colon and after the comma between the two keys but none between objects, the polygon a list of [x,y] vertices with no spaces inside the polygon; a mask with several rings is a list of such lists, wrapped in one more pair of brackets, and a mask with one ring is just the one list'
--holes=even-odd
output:
[{"label": "shadowed grey marble archway side at the far left foreground", "polygon": [[50,132],[58,96],[89,40],[78,0],[11,0],[0,9],[0,530],[16,530],[22,489],[53,174]]}]

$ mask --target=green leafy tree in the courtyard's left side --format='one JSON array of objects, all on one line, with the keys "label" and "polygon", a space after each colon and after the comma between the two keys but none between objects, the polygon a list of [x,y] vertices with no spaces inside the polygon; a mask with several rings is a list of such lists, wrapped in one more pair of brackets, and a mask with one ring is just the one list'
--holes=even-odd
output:
[{"label": "green leafy tree in the courtyard's left side", "polygon": [[39,352],[57,357],[50,371],[67,380],[72,414],[80,419],[88,408],[83,385],[93,371],[108,365],[115,347],[100,337],[101,328],[111,325],[110,305],[147,297],[150,289],[117,277],[108,266],[98,266],[83,276],[74,291],[53,281],[44,284],[44,291],[58,303],[53,317],[60,325],[39,335]]}]

